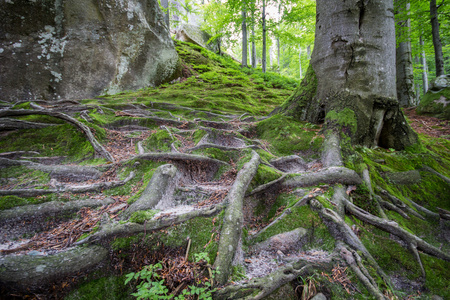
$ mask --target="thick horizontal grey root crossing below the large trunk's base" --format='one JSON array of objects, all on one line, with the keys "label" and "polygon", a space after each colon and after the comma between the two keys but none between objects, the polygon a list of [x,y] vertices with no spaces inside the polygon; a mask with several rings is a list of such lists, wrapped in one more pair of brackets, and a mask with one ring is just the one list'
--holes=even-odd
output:
[{"label": "thick horizontal grey root crossing below the large trunk's base", "polygon": [[334,184],[341,183],[346,185],[360,184],[361,177],[358,174],[345,167],[329,167],[317,172],[305,172],[292,176],[283,182],[284,187],[294,188],[302,186],[314,186],[319,183]]}]

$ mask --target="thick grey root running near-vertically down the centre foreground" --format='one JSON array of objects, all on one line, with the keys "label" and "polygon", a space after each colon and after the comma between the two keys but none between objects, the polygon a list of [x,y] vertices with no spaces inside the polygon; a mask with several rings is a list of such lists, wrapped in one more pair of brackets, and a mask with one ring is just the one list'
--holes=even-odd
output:
[{"label": "thick grey root running near-vertically down the centre foreground", "polygon": [[218,254],[214,262],[215,267],[220,271],[216,277],[219,284],[225,284],[231,274],[231,264],[242,234],[244,221],[243,199],[250,181],[258,171],[259,162],[259,155],[255,151],[252,151],[251,160],[244,164],[239,171],[227,195],[226,200],[229,205],[223,218]]}]

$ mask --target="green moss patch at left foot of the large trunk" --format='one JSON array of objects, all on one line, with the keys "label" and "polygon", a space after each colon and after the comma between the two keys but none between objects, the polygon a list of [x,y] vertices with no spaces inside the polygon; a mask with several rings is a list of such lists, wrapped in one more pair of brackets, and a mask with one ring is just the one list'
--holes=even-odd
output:
[{"label": "green moss patch at left foot of the large trunk", "polygon": [[283,115],[274,115],[256,125],[258,137],[269,142],[274,155],[301,154],[311,159],[318,158],[323,142],[318,130],[317,125]]}]

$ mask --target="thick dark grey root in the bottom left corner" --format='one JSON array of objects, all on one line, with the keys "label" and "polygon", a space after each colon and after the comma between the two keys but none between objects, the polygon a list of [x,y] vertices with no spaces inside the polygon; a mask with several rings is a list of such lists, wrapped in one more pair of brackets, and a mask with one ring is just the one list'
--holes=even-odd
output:
[{"label": "thick dark grey root in the bottom left corner", "polygon": [[0,257],[0,288],[37,291],[54,281],[97,267],[108,257],[100,246],[78,247],[55,255]]}]

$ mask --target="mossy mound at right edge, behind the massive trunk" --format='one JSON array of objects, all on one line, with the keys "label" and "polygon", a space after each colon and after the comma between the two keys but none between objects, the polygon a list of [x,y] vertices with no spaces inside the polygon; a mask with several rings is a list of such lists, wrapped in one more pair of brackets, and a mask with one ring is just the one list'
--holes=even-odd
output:
[{"label": "mossy mound at right edge, behind the massive trunk", "polygon": [[417,113],[429,115],[444,120],[450,120],[450,87],[435,92],[429,90],[420,99]]}]

